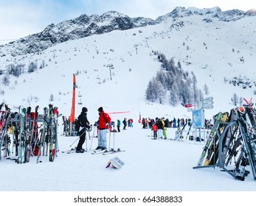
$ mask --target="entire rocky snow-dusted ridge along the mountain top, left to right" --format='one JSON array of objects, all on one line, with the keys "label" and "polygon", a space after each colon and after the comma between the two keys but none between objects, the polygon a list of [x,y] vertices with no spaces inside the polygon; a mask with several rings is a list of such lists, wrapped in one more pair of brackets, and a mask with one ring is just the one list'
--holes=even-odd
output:
[{"label": "entire rocky snow-dusted ridge along the mountain top, left to right", "polygon": [[60,22],[59,24],[49,24],[44,31],[34,35],[21,38],[14,42],[0,46],[0,56],[11,53],[13,56],[20,54],[30,54],[54,46],[67,40],[85,38],[90,35],[101,35],[113,30],[126,30],[153,24],[159,24],[166,18],[182,18],[191,15],[207,15],[210,18],[218,18],[220,21],[236,21],[244,16],[255,15],[251,10],[243,12],[241,10],[229,10],[222,12],[219,7],[212,9],[198,9],[196,7],[176,7],[171,13],[159,16],[156,20],[151,18],[137,17],[130,18],[128,15],[109,11],[103,15],[80,15],[77,18]]}]

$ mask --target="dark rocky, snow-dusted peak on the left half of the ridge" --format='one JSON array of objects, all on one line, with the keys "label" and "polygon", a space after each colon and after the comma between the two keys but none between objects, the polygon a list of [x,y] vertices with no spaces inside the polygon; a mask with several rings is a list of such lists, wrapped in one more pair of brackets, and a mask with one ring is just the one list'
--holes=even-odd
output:
[{"label": "dark rocky, snow-dusted peak on the left half of the ridge", "polygon": [[[15,55],[31,54],[54,46],[67,40],[86,38],[90,35],[101,35],[113,30],[126,30],[153,25],[151,18],[130,18],[127,15],[109,11],[103,15],[80,15],[78,18],[49,24],[44,31],[8,43],[7,50]],[[0,49],[1,54],[1,49]]]}]

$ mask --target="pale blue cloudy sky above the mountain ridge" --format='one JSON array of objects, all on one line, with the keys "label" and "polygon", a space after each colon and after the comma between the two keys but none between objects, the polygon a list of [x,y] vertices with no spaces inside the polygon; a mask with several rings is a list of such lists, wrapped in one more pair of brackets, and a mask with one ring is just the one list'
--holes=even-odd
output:
[{"label": "pale blue cloudy sky above the mountain ridge", "polygon": [[0,44],[41,32],[49,24],[109,10],[156,19],[175,7],[256,9],[255,0],[0,0]]}]

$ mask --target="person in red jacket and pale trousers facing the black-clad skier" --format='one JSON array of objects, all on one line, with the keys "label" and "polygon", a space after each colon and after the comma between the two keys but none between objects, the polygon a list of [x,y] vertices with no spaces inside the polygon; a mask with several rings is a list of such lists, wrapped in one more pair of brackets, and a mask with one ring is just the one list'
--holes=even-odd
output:
[{"label": "person in red jacket and pale trousers facing the black-clad skier", "polygon": [[101,149],[101,150],[105,150],[107,149],[107,132],[106,132],[106,127],[108,127],[108,125],[111,122],[111,118],[110,116],[108,116],[107,113],[105,113],[103,111],[103,107],[100,107],[98,109],[99,112],[99,121],[98,121],[98,129],[99,129],[99,133],[98,133],[98,146],[96,149]]}]

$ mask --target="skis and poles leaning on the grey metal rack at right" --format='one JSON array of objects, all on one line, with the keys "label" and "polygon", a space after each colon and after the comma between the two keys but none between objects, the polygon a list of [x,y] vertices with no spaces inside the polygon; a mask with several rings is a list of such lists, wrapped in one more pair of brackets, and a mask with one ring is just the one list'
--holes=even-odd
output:
[{"label": "skis and poles leaning on the grey metal rack at right", "polygon": [[245,105],[214,116],[214,127],[193,168],[218,166],[242,181],[251,171],[256,180],[256,110],[252,99],[244,100]]}]

